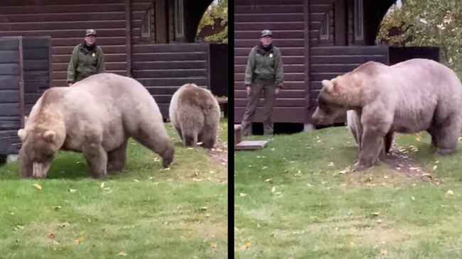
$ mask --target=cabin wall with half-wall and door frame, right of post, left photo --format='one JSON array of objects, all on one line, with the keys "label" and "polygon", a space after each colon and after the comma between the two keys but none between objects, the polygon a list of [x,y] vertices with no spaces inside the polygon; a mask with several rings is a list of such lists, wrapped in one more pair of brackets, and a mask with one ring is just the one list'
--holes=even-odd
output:
[{"label": "cabin wall with half-wall and door frame, right of post, left photo", "polygon": [[[131,0],[131,74],[156,99],[164,118],[168,118],[173,93],[183,84],[210,88],[210,46],[193,41],[198,20],[211,2],[196,1],[199,7],[186,9],[193,1]],[[174,4],[193,11],[182,23],[195,23],[195,27],[179,26],[183,33],[175,31],[174,13],[181,8]]]}]

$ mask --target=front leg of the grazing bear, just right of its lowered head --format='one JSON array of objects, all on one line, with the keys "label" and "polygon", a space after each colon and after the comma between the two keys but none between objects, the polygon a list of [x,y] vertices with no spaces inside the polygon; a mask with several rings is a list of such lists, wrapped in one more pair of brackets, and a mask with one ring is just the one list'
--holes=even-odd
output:
[{"label": "front leg of the grazing bear, just right of its lowered head", "polygon": [[100,178],[107,175],[107,153],[102,145],[90,144],[82,153],[90,165],[92,177]]}]

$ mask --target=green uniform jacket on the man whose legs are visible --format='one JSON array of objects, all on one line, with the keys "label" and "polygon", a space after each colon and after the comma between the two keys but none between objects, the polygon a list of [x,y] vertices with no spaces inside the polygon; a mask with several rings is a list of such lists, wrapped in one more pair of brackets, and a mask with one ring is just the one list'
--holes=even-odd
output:
[{"label": "green uniform jacket on the man whose legs are visible", "polygon": [[282,68],[281,50],[273,46],[265,51],[261,45],[250,50],[245,69],[246,86],[254,82],[274,82],[276,87],[284,83],[284,69]]}]

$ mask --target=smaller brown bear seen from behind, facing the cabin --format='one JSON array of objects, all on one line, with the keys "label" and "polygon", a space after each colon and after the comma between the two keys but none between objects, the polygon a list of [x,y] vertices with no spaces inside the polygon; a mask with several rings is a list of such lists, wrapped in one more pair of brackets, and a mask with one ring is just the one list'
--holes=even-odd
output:
[{"label": "smaller brown bear seen from behind, facing the cabin", "polygon": [[183,146],[202,142],[204,148],[213,148],[220,123],[220,106],[210,91],[195,84],[184,84],[173,94],[169,114]]}]

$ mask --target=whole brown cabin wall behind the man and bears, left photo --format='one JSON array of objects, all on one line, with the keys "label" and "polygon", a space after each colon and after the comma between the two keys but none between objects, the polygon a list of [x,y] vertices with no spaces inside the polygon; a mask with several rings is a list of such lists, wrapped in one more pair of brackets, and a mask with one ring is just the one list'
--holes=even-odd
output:
[{"label": "whole brown cabin wall behind the man and bears, left photo", "polygon": [[191,42],[212,1],[4,0],[0,36],[50,36],[50,85],[65,87],[72,48],[87,28],[95,28],[107,72],[146,84],[166,118],[171,95],[182,84],[210,87],[209,45]]}]

